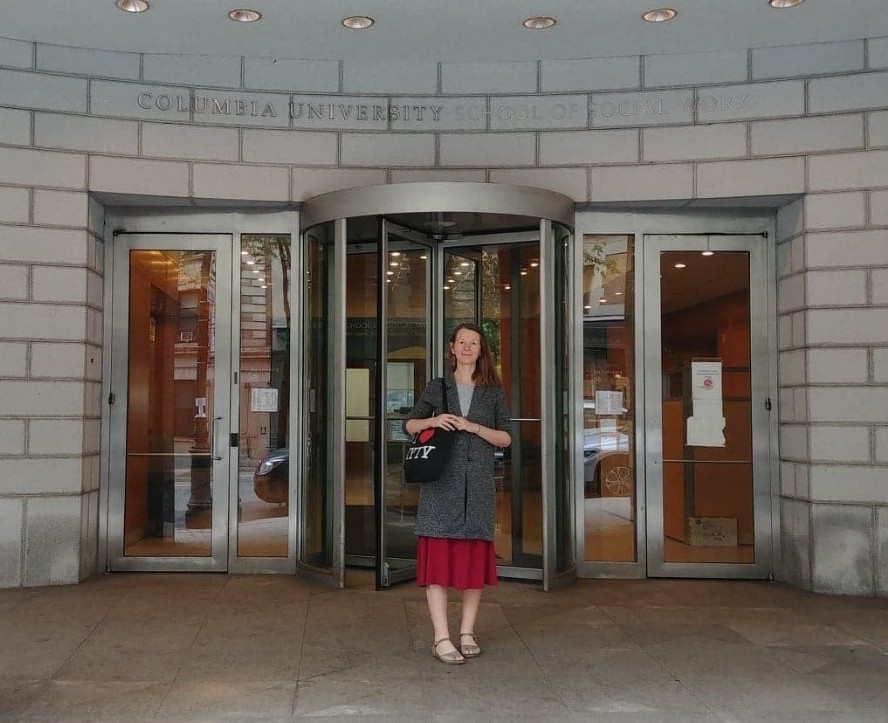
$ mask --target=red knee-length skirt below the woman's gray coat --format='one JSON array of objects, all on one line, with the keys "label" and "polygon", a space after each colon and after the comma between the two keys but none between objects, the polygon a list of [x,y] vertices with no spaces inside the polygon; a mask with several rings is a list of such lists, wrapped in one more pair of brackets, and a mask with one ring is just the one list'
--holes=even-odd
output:
[{"label": "red knee-length skirt below the woman's gray coat", "polygon": [[488,540],[422,537],[416,549],[416,584],[480,590],[496,585],[496,553]]}]

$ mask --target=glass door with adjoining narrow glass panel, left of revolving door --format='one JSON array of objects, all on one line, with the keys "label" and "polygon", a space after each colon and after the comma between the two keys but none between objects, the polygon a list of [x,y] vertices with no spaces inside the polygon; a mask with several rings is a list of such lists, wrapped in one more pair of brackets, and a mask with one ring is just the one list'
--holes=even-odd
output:
[{"label": "glass door with adjoining narrow glass panel, left of revolving door", "polygon": [[292,571],[290,235],[112,251],[111,568]]}]

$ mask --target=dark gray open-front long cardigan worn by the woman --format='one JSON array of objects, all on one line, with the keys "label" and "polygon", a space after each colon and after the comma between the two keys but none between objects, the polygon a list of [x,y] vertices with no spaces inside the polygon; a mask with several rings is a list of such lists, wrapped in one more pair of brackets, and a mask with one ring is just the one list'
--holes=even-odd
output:
[{"label": "dark gray open-front long cardigan worn by the woman", "polygon": [[[459,392],[453,372],[444,376],[447,408],[459,415]],[[442,411],[440,377],[429,382],[409,419],[427,419]],[[503,388],[476,386],[466,418],[491,429],[512,433]],[[405,420],[405,423],[406,421]],[[425,537],[454,537],[493,540],[495,490],[493,484],[496,447],[476,434],[458,432],[441,479],[420,487],[416,534]]]}]

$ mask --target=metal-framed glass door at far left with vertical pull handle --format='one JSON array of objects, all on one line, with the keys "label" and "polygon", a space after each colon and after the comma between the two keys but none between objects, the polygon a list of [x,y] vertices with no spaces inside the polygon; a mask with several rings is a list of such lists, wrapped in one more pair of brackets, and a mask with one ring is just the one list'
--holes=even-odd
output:
[{"label": "metal-framed glass door at far left with vertical pull handle", "polygon": [[121,234],[119,241],[111,567],[224,570],[231,237]]}]

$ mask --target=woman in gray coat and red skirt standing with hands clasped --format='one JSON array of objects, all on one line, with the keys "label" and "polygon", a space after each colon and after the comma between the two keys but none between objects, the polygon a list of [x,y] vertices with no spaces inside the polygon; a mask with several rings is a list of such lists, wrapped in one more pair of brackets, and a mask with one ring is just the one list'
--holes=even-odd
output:
[{"label": "woman in gray coat and red skirt standing with hands clasped", "polygon": [[[447,408],[460,413],[435,414],[443,409],[443,400],[441,382],[434,380],[407,415],[404,429],[411,435],[430,427],[461,432],[441,479],[420,488],[416,517],[416,582],[426,588],[435,630],[432,655],[458,665],[481,655],[475,618],[484,585],[496,584],[494,452],[508,447],[512,437],[505,394],[484,332],[475,324],[456,327],[448,360]],[[449,587],[462,591],[458,649],[447,622]]]}]

